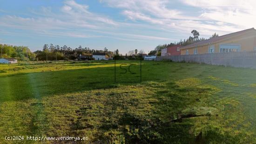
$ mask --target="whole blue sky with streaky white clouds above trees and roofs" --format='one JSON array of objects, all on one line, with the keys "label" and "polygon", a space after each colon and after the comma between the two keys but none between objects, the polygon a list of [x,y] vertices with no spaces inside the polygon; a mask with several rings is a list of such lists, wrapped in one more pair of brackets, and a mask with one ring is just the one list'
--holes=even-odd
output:
[{"label": "whole blue sky with streaky white clouds above trees and roofs", "polygon": [[192,36],[256,26],[255,0],[0,0],[0,43],[148,53]]}]

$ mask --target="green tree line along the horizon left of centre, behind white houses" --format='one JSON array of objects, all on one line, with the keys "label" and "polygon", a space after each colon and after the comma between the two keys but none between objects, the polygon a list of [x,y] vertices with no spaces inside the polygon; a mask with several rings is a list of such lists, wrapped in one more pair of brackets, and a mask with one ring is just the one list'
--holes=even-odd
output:
[{"label": "green tree line along the horizon left of centre, behind white houses", "polygon": [[42,50],[31,52],[27,46],[11,46],[0,44],[1,58],[16,58],[18,60],[74,60],[80,55],[91,56],[94,52],[106,53],[108,57],[114,57],[119,54],[118,50],[111,52],[105,47],[103,50],[94,50],[89,47],[78,46],[77,48],[70,48],[69,46],[59,46],[53,44],[45,44]]}]

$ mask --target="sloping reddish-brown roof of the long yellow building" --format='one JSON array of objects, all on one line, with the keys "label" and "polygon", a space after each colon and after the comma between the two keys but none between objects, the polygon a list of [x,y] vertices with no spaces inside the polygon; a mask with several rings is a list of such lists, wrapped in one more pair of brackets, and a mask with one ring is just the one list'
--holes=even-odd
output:
[{"label": "sloping reddish-brown roof of the long yellow building", "polygon": [[254,28],[250,28],[250,29],[246,29],[246,30],[243,30],[243,31],[222,35],[222,36],[219,36],[219,37],[206,39],[206,40],[203,40],[203,41],[198,41],[198,42],[195,42],[195,43],[190,44],[188,46],[182,46],[182,47],[180,47],[180,49],[186,49],[186,48],[190,48],[190,47],[194,47],[194,46],[201,46],[201,45],[216,43],[216,42],[221,41],[223,39],[232,38],[232,37],[235,37],[235,36],[238,36],[238,35],[241,35],[241,34],[244,34],[244,33],[248,33],[248,32],[251,32],[251,31],[256,32],[256,30]]}]

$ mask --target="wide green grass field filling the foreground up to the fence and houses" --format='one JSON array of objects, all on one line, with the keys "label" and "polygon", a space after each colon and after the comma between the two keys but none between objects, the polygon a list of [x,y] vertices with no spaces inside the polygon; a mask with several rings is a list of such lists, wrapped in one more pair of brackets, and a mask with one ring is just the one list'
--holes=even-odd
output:
[{"label": "wide green grass field filling the foreground up to the fence and houses", "polygon": [[[116,68],[121,63],[139,64],[117,61]],[[142,83],[115,83],[114,66],[0,65],[0,141],[12,143],[4,140],[12,135],[116,144],[256,143],[256,70],[142,61]]]}]

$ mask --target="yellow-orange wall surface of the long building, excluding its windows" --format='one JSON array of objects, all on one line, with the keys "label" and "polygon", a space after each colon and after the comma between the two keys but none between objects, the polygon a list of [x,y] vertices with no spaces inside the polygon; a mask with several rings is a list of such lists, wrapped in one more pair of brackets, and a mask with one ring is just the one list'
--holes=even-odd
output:
[{"label": "yellow-orange wall surface of the long building, excluding its windows", "polygon": [[[246,33],[241,36],[237,36],[230,39],[225,39],[223,41],[213,44],[215,46],[215,52],[220,52],[220,45],[222,44],[237,44],[241,46],[241,52],[244,51],[253,51],[253,48],[256,47],[256,33]],[[208,53],[209,45],[205,46],[196,46],[197,54]],[[189,48],[189,54],[194,54],[194,48]],[[181,50],[181,55],[186,55],[186,49]]]}]

